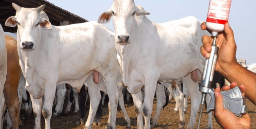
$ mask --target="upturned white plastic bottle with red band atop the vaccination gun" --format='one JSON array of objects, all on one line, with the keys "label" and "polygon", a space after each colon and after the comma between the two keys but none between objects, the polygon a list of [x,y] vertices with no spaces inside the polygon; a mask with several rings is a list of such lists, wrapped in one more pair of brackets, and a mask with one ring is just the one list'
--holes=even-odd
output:
[{"label": "upturned white plastic bottle with red band atop the vaccination gun", "polygon": [[231,0],[210,0],[206,19],[206,27],[212,35],[224,31],[224,24],[228,22]]}]

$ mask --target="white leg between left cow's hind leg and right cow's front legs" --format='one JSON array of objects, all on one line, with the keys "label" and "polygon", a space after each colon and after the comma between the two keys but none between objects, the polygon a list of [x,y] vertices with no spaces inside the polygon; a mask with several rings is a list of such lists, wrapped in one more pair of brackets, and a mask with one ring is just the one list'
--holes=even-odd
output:
[{"label": "white leg between left cow's hind leg and right cow's front legs", "polygon": [[131,126],[130,126],[130,118],[128,117],[128,114],[126,112],[126,109],[125,109],[125,103],[124,103],[124,97],[123,97],[123,91],[122,89],[119,90],[119,106],[124,114],[124,117],[125,117],[125,121],[126,121],[126,129],[131,129]]}]

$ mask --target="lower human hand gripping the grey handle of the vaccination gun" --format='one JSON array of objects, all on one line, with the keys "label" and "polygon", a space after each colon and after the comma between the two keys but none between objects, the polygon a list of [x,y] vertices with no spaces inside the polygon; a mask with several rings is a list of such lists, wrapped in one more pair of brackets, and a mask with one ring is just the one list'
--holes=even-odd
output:
[{"label": "lower human hand gripping the grey handle of the vaccination gun", "polygon": [[[229,86],[223,86],[223,91],[228,91],[229,89],[237,86],[236,82],[232,82]],[[239,86],[242,92],[242,96],[245,95],[245,87],[244,85]],[[220,94],[220,88],[216,88],[214,90],[215,96],[215,110],[213,111],[213,115],[217,121],[217,123],[223,129],[250,129],[251,118],[248,113],[244,114],[242,117],[237,117],[228,109],[223,106],[223,97]]]}]

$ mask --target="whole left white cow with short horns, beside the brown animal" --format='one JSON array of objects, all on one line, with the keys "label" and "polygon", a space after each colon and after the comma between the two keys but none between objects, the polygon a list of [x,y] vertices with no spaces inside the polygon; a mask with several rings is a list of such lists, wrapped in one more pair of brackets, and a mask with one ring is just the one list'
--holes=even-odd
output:
[{"label": "whole left white cow with short horns, beside the brown animal", "polygon": [[[30,9],[13,3],[16,15],[9,17],[5,22],[5,25],[10,27],[18,24],[20,66],[27,81],[26,90],[33,96],[31,99],[35,121],[40,123],[40,104],[44,95],[43,117],[45,128],[50,129],[57,84],[69,83],[79,92],[88,77],[94,73],[97,75],[99,71],[106,81],[110,100],[107,127],[114,129],[119,72],[114,33],[97,22],[54,26],[40,16],[44,6]],[[97,82],[97,79],[94,81]],[[94,87],[89,86],[88,90],[91,88]],[[91,99],[100,101],[100,98]],[[92,108],[97,107],[98,105],[94,105]],[[92,116],[95,116],[94,112]],[[91,125],[92,123],[87,121],[85,128],[91,128]],[[35,128],[41,127],[35,125]]]}]

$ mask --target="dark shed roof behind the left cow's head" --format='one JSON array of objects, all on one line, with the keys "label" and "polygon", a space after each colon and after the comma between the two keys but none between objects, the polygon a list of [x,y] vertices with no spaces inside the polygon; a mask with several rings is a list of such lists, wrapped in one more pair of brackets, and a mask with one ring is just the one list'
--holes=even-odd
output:
[{"label": "dark shed roof behind the left cow's head", "polygon": [[49,21],[53,25],[58,26],[62,21],[68,21],[69,24],[88,22],[86,19],[57,7],[47,0],[0,0],[0,24],[5,32],[17,32],[17,26],[8,27],[4,25],[7,18],[15,16],[16,11],[14,10],[12,3],[25,8],[36,8],[45,4],[43,11],[46,12]]}]

